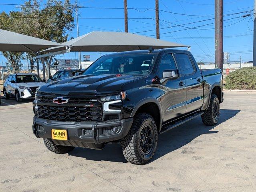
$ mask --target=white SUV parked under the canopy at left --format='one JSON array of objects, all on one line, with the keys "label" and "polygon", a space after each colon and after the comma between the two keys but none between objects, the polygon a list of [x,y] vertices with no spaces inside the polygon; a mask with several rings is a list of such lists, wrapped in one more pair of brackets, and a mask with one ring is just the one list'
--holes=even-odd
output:
[{"label": "white SUV parked under the canopy at left", "polygon": [[4,82],[4,98],[15,96],[17,102],[22,102],[23,98],[34,98],[36,89],[43,84],[45,80],[41,80],[34,73],[10,74]]}]

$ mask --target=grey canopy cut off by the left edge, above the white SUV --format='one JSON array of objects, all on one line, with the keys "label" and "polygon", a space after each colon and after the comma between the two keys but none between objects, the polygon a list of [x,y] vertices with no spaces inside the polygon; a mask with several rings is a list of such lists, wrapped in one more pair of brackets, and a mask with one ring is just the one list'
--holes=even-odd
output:
[{"label": "grey canopy cut off by the left edge, above the white SUV", "polygon": [[0,51],[38,52],[59,43],[0,29]]}]

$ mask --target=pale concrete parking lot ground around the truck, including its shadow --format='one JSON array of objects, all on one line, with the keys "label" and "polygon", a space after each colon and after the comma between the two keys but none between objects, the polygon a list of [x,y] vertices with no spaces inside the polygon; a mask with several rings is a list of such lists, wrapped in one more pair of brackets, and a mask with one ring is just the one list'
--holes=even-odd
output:
[{"label": "pale concrete parking lot ground around the truck, including its shadow", "polygon": [[32,100],[0,106],[1,192],[253,192],[256,92],[224,92],[220,121],[200,118],[159,136],[153,160],[125,162],[121,146],[54,154],[32,134]]}]

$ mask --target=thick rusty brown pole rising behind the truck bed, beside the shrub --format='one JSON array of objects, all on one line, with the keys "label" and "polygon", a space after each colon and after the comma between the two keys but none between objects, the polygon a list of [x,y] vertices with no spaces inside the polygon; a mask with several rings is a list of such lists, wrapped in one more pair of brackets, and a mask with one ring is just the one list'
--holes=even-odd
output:
[{"label": "thick rusty brown pole rising behind the truck bed, beside the shrub", "polygon": [[215,0],[215,66],[222,72],[223,57],[223,0]]}]

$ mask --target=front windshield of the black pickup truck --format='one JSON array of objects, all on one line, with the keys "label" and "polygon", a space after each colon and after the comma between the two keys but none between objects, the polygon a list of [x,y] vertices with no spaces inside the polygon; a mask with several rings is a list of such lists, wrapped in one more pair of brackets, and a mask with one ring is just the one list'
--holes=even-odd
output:
[{"label": "front windshield of the black pickup truck", "polygon": [[106,55],[95,61],[82,75],[102,74],[148,74],[157,54]]}]

